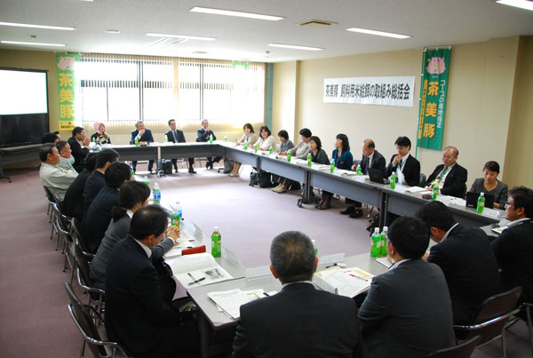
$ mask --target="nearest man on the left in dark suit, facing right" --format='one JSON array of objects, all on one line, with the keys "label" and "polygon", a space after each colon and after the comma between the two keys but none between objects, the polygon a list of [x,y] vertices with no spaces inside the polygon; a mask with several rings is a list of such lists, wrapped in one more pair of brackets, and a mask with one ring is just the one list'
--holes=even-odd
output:
[{"label": "nearest man on the left in dark suit, facing right", "polygon": [[150,258],[167,227],[168,214],[159,205],[140,208],[131,218],[130,235],[115,244],[107,260],[107,334],[136,358],[199,354],[197,332],[182,324],[178,307],[164,302]]}]

